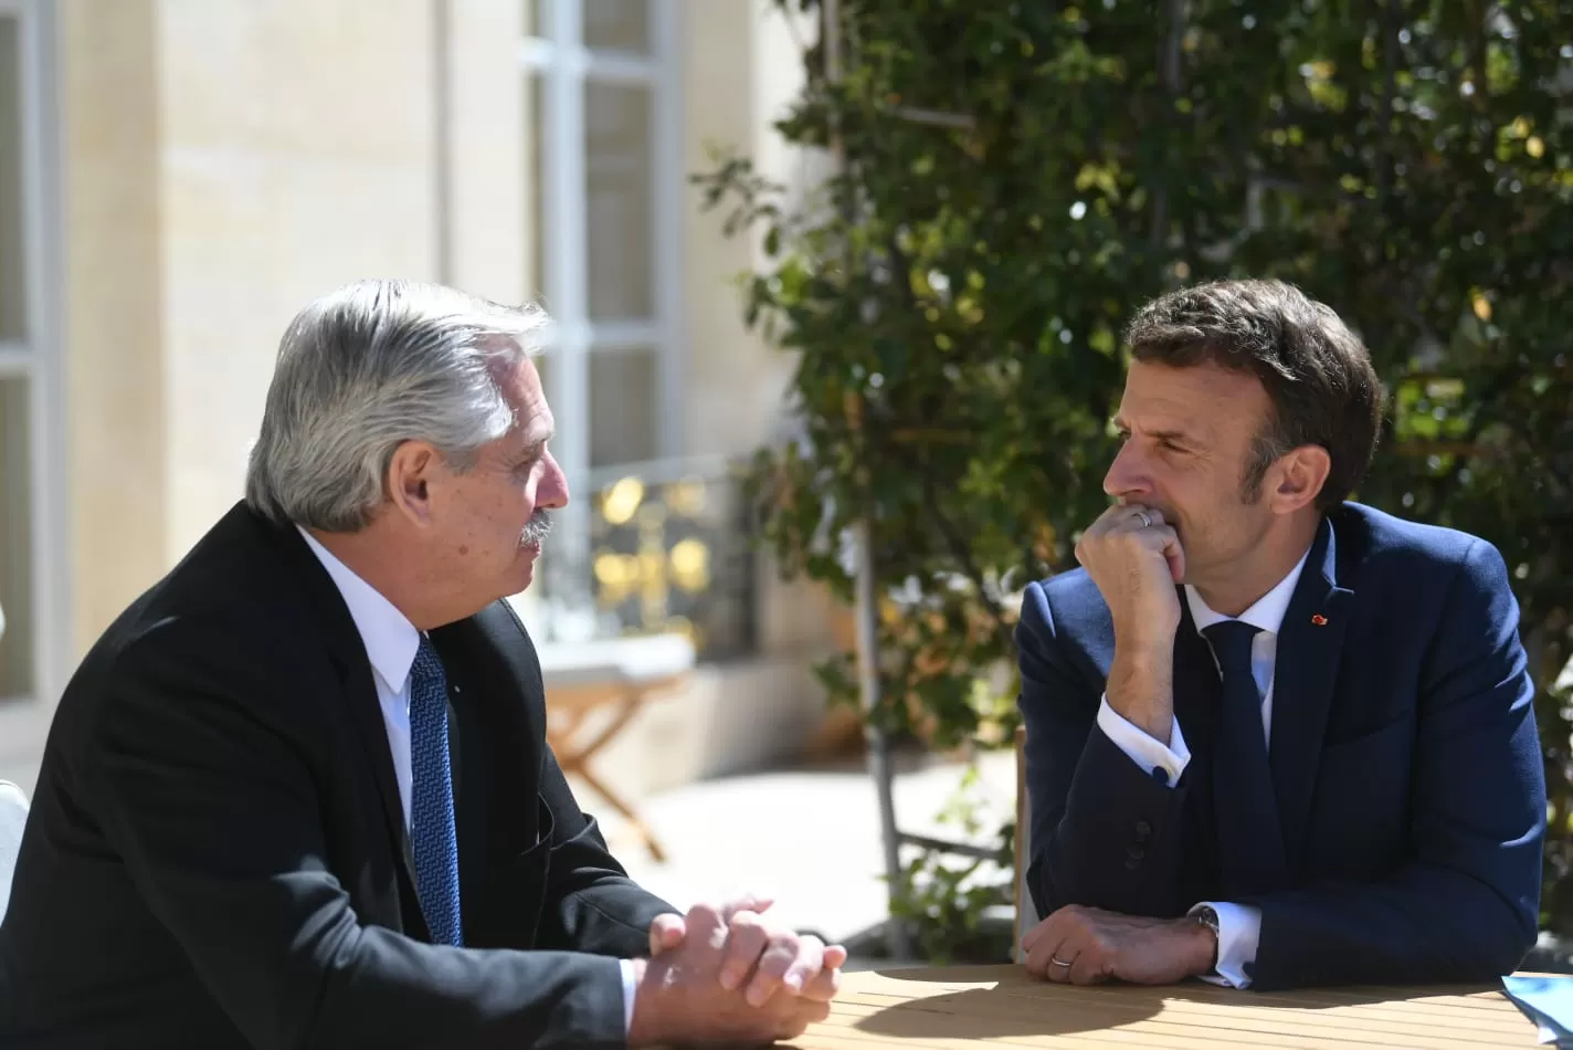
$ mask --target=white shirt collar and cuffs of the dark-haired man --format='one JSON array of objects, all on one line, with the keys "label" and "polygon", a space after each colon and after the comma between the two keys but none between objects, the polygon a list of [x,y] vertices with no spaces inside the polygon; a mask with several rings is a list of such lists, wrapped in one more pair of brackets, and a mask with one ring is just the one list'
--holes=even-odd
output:
[{"label": "white shirt collar and cuffs of the dark-haired man", "polygon": [[[1262,693],[1262,735],[1269,741],[1273,740],[1273,678],[1277,667],[1277,638],[1284,627],[1284,616],[1288,612],[1290,598],[1295,597],[1295,586],[1306,568],[1307,557],[1310,557],[1309,549],[1301,554],[1299,562],[1290,570],[1288,576],[1280,579],[1273,590],[1262,595],[1254,606],[1238,617],[1258,628],[1257,636],[1251,639],[1251,672],[1257,680],[1257,690]],[[1186,604],[1191,606],[1191,619],[1195,622],[1197,631],[1230,619],[1210,609],[1202,595],[1195,592],[1195,587],[1189,584],[1184,587],[1184,597]],[[1184,773],[1184,767],[1191,762],[1191,749],[1184,743],[1184,734],[1180,732],[1178,718],[1173,721],[1173,729],[1166,745],[1120,716],[1118,712],[1109,707],[1109,697],[1104,694],[1103,704],[1098,707],[1098,727],[1144,773],[1164,770],[1169,773],[1170,784],[1178,782],[1180,775]],[[1246,976],[1246,967],[1255,962],[1257,945],[1262,940],[1262,910],[1227,900],[1202,900],[1191,908],[1191,913],[1195,915],[1202,907],[1211,907],[1218,911],[1218,978],[1236,989],[1247,987],[1251,978]]]}]

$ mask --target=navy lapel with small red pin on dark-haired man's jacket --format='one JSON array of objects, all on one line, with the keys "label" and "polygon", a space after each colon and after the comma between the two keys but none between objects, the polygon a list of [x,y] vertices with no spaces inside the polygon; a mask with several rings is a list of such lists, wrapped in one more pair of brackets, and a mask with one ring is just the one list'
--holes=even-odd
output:
[{"label": "navy lapel with small red pin on dark-haired man's jacket", "polygon": [[1323,734],[1339,675],[1353,590],[1337,584],[1337,537],[1323,518],[1306,571],[1290,598],[1273,675],[1269,760],[1291,875],[1299,872],[1317,787]]}]

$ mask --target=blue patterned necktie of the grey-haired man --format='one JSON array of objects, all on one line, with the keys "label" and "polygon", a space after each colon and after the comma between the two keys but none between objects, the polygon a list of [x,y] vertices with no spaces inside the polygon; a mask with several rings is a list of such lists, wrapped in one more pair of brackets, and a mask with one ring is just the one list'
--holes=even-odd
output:
[{"label": "blue patterned necktie of the grey-haired man", "polygon": [[420,636],[409,669],[411,828],[415,891],[434,945],[464,945],[459,926],[459,839],[448,768],[448,678],[431,639]]}]

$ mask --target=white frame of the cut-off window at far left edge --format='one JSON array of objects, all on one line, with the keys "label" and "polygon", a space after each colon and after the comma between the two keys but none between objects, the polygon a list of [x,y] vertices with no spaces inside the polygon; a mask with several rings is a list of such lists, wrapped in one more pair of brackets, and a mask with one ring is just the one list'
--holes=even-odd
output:
[{"label": "white frame of the cut-off window at far left edge", "polygon": [[[31,696],[0,704],[58,699],[71,671],[71,573],[66,523],[66,434],[61,316],[60,142],[55,82],[55,5],[0,0],[0,17],[17,24],[22,142],[22,280],[27,334],[0,340],[0,379],[22,379],[28,392],[30,512],[33,554]],[[6,612],[6,619],[20,612]]]}]

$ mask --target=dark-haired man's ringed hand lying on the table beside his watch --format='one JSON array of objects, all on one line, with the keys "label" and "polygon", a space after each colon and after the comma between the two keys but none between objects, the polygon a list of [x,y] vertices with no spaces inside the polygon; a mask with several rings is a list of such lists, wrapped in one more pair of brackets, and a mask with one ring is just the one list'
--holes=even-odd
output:
[{"label": "dark-haired man's ringed hand lying on the table beside his watch", "polygon": [[1068,905],[1021,940],[1027,973],[1070,984],[1173,984],[1213,970],[1218,938],[1191,918],[1151,919]]}]

